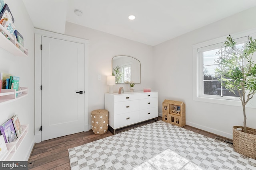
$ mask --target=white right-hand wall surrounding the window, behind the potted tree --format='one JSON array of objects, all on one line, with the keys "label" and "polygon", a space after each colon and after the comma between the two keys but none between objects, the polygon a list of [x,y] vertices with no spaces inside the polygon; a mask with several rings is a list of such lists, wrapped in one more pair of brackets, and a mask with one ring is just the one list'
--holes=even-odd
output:
[{"label": "white right-hand wall surrounding the window, behind the potted tree", "polygon": [[[193,101],[192,45],[255,28],[255,15],[252,8],[154,47],[159,113],[164,99],[183,101],[186,124],[232,139],[232,127],[243,125],[242,107]],[[255,113],[256,109],[247,108],[248,127],[256,128]]]}]

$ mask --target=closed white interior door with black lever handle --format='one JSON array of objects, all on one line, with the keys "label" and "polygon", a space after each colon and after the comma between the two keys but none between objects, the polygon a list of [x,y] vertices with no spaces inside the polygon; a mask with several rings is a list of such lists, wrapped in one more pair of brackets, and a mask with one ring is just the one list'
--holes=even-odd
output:
[{"label": "closed white interior door with black lever handle", "polygon": [[84,45],[42,36],[42,141],[81,131]]}]

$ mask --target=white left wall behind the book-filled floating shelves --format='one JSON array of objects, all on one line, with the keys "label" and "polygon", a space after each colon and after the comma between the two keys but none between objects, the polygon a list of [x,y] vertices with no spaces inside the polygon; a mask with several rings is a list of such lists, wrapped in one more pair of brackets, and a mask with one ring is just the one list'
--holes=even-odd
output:
[{"label": "white left wall behind the book-filled floating shelves", "polygon": [[4,0],[14,17],[16,29],[24,37],[28,57],[14,56],[0,48],[0,72],[20,76],[20,86],[28,87],[28,96],[0,105],[0,123],[18,114],[21,124],[28,124],[28,135],[12,160],[28,160],[34,145],[34,28],[22,1]]}]

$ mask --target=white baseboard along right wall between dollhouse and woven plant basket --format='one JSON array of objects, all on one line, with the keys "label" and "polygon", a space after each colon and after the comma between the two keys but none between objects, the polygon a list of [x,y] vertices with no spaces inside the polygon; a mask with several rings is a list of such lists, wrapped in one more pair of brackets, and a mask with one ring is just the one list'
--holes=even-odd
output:
[{"label": "white baseboard along right wall between dollhouse and woven plant basket", "polygon": [[202,125],[192,123],[192,122],[189,122],[189,121],[186,121],[186,125],[196,127],[198,129],[201,129],[201,130],[204,130],[204,131],[207,131],[207,132],[210,132],[210,133],[214,133],[216,135],[220,135],[220,136],[226,137],[228,139],[233,139],[233,134],[226,133],[226,132],[223,132],[223,131],[219,131],[219,130],[216,130],[216,129],[212,129],[210,127],[202,126]]}]

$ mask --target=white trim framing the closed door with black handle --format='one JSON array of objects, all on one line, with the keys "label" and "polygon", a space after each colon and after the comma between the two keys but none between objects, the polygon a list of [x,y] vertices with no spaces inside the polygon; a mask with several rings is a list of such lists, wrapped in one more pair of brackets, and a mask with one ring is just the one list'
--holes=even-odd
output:
[{"label": "white trim framing the closed door with black handle", "polygon": [[35,33],[35,142],[40,143],[42,141],[42,133],[39,131],[42,126],[42,94],[41,94],[41,73],[42,73],[42,53],[41,53],[41,40],[42,36],[62,39],[66,41],[72,41],[75,43],[84,44],[84,131],[89,130],[88,122],[88,43],[86,39],[78,37],[71,37],[64,34],[45,31],[42,29],[34,29]]}]

